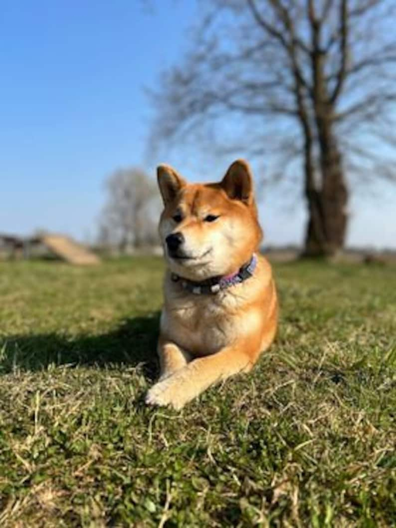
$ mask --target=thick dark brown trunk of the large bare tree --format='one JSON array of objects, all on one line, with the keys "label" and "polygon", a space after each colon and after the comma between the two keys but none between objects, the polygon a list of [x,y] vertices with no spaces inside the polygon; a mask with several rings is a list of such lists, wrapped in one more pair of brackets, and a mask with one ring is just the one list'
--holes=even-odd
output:
[{"label": "thick dark brown trunk of the large bare tree", "polygon": [[309,218],[304,255],[333,257],[345,242],[348,192],[342,157],[332,134],[331,123],[319,120],[318,130],[322,185],[318,189],[314,185],[306,185]]}]

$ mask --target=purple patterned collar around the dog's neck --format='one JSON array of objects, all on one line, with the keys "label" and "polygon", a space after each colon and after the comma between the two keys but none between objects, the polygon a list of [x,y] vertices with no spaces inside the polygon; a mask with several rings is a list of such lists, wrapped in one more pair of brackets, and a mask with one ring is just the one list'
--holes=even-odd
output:
[{"label": "purple patterned collar around the dog's neck", "polygon": [[254,273],[254,270],[256,269],[256,266],[257,256],[253,253],[252,258],[249,260],[249,262],[247,264],[244,264],[239,269],[239,271],[237,271],[237,273],[226,275],[225,277],[212,277],[202,282],[195,282],[193,280],[184,279],[183,277],[180,277],[173,273],[171,275],[171,279],[174,282],[181,281],[182,288],[187,291],[190,291],[190,293],[192,294],[216,294],[220,290],[225,290],[226,288],[234,286],[235,284],[239,284],[240,282],[243,282],[244,280],[251,277]]}]

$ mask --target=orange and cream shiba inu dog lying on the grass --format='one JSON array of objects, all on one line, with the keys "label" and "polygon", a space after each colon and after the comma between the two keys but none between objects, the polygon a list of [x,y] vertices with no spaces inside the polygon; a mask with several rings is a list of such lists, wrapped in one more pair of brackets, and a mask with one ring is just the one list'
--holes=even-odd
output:
[{"label": "orange and cream shiba inu dog lying on the grass", "polygon": [[146,402],[181,409],[211,384],[248,372],[274,340],[278,303],[247,162],[220,183],[189,184],[157,168],[167,271],[158,355]]}]

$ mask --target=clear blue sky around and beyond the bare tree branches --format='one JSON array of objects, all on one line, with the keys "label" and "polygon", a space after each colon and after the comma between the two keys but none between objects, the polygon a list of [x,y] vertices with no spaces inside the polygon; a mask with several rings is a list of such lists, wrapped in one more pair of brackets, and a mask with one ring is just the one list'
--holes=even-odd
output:
[{"label": "clear blue sky around and beyond the bare tree branches", "polygon": [[[168,161],[202,177],[180,152],[146,155],[144,87],[158,87],[161,70],[180,57],[195,14],[194,1],[2,2],[0,232],[45,228],[93,238],[103,180],[121,166],[154,177],[155,165]],[[219,170],[204,179],[220,178]],[[395,248],[396,187],[376,191],[380,199],[370,192],[352,200],[348,243]],[[261,212],[267,242],[301,241],[301,203],[286,211],[270,188]]]}]

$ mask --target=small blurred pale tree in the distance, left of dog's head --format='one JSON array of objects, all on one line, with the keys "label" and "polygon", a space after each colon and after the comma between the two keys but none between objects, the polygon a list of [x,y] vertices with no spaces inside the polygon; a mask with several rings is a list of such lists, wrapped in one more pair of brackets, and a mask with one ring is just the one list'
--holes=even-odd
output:
[{"label": "small blurred pale tree in the distance, left of dog's head", "polygon": [[120,251],[157,240],[155,183],[139,168],[119,169],[106,180],[107,202],[99,222],[99,240]]}]

